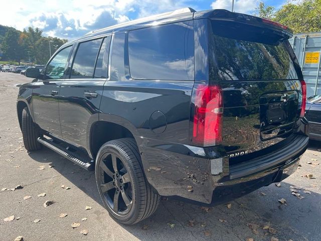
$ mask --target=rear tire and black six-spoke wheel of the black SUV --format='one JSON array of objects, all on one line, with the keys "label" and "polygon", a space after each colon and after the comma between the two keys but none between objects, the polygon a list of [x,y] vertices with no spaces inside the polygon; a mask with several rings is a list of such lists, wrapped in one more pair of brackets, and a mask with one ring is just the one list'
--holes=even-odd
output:
[{"label": "rear tire and black six-spoke wheel of the black SUV", "polygon": [[102,202],[116,221],[134,224],[155,212],[161,196],[146,181],[134,139],[105,143],[97,154],[95,175]]}]

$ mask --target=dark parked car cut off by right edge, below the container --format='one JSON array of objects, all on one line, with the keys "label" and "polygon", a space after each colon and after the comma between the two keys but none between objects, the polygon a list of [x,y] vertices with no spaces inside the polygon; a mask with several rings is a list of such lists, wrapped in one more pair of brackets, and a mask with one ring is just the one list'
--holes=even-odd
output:
[{"label": "dark parked car cut off by right edge, below the container", "polygon": [[306,99],[305,117],[310,124],[309,138],[321,141],[321,94]]}]

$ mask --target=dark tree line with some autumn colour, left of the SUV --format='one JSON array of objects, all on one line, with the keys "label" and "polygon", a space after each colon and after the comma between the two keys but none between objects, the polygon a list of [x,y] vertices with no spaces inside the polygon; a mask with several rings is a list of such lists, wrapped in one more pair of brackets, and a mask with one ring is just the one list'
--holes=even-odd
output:
[{"label": "dark tree line with some autumn colour, left of the SUV", "polygon": [[36,64],[46,64],[51,54],[61,45],[67,42],[66,39],[44,37],[38,28],[29,27],[23,32],[11,27],[0,26],[0,44],[4,53],[4,60],[30,60]]}]

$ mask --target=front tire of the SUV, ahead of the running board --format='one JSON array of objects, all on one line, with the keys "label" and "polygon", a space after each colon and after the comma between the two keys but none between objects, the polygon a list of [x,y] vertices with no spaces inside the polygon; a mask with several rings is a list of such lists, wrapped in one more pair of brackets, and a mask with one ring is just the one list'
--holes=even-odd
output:
[{"label": "front tire of the SUV, ahead of the running board", "polygon": [[41,149],[41,144],[37,141],[41,135],[33,122],[28,107],[25,107],[22,111],[22,136],[26,150],[36,151]]}]

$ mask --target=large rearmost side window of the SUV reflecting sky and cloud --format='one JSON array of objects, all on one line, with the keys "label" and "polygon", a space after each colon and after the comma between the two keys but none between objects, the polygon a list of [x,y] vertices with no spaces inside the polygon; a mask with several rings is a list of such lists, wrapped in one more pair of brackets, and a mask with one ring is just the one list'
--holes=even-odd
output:
[{"label": "large rearmost side window of the SUV reflecting sky and cloud", "polygon": [[128,54],[133,79],[194,80],[193,22],[130,31]]}]

